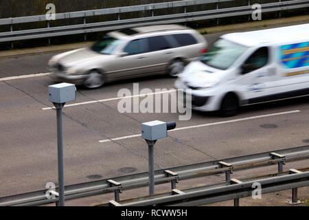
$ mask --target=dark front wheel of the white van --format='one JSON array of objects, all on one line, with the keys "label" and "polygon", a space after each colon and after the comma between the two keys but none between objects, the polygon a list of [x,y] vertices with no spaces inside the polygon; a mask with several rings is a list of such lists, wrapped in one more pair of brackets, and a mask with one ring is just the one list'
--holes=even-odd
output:
[{"label": "dark front wheel of the white van", "polygon": [[234,94],[227,94],[221,102],[220,115],[231,117],[237,115],[239,111],[238,98]]}]

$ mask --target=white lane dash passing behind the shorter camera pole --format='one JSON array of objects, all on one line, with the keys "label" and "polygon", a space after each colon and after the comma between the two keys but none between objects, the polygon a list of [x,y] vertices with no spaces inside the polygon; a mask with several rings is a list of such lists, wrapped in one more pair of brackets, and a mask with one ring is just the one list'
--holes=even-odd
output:
[{"label": "white lane dash passing behind the shorter camera pole", "polygon": [[[183,126],[181,128],[174,129],[174,130],[171,130],[171,131],[168,131],[168,132],[181,131],[181,130],[186,130],[186,129],[196,129],[196,128],[201,128],[201,127],[204,127],[204,126],[212,126],[212,125],[218,125],[218,124],[228,124],[228,123],[233,123],[233,122],[242,122],[242,121],[253,120],[253,119],[257,119],[257,118],[268,118],[268,117],[276,116],[276,115],[286,115],[286,114],[290,114],[290,113],[299,113],[299,112],[300,112],[299,110],[283,111],[283,112],[279,112],[279,113],[257,115],[257,116],[252,116],[252,117],[247,117],[247,118],[238,118],[238,119],[227,120],[227,121],[222,121],[222,122],[213,122],[213,123],[208,123],[208,124],[197,124],[197,125],[192,125],[192,126]],[[115,138],[111,138],[111,139],[99,140],[99,142],[100,143],[111,142],[111,141],[115,141],[115,140],[124,140],[124,139],[128,139],[128,138],[140,137],[140,136],[141,136],[141,134],[139,134],[139,135],[128,135],[128,136],[123,136],[123,137],[115,137]]]}]

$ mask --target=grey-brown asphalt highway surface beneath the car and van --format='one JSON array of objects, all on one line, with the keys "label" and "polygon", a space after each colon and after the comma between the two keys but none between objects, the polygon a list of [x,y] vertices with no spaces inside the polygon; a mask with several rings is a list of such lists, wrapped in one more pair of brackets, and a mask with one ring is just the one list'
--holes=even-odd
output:
[{"label": "grey-brown asphalt highway surface beneath the car and van", "polygon": [[[218,36],[206,38],[214,41]],[[54,82],[48,75],[7,78],[48,72],[46,64],[52,55],[0,60],[0,197],[40,190],[47,182],[58,181],[56,111],[47,100],[47,86]],[[172,89],[174,79],[140,78],[95,90],[78,87],[76,105],[64,109],[66,185],[146,172],[146,143],[141,137],[127,136],[138,135],[141,122],[151,120],[176,120],[177,128],[183,128],[157,142],[155,168],[309,143],[309,98],[245,107],[232,118],[193,112],[191,120],[179,121],[176,113],[119,113],[119,100],[113,98],[119,89],[132,91],[133,83],[139,83],[140,89]],[[95,102],[85,103],[89,101]]]}]

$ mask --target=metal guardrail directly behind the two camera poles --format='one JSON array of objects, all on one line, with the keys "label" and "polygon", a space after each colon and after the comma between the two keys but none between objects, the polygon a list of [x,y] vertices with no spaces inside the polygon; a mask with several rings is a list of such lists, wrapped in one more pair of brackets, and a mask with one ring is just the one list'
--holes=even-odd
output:
[{"label": "metal guardrail directly behind the two camera poles", "polygon": [[[231,181],[231,173],[236,170],[257,168],[277,164],[278,173],[283,172],[286,162],[293,162],[301,159],[309,159],[309,146],[287,148],[279,151],[270,151],[254,155],[227,158],[201,164],[192,164],[155,171],[155,184],[171,183],[172,190],[176,190],[176,184],[180,180],[194,179],[225,173],[225,180]],[[93,195],[102,195],[109,192],[115,193],[115,201],[119,202],[119,192],[133,188],[148,186],[148,173],[139,173],[111,179],[102,179],[83,184],[65,186],[65,199],[78,199]],[[0,198],[0,206],[40,206],[48,203],[55,203],[58,198],[47,199],[47,190],[28,192],[21,195],[12,195]]]}]

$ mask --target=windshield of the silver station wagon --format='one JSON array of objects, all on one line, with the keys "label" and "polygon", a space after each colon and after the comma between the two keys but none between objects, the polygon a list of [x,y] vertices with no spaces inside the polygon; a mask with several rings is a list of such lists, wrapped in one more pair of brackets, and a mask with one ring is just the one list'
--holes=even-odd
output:
[{"label": "windshield of the silver station wagon", "polygon": [[114,39],[111,36],[104,35],[100,41],[91,46],[91,50],[100,54],[113,54],[116,47],[122,43],[121,40]]}]

